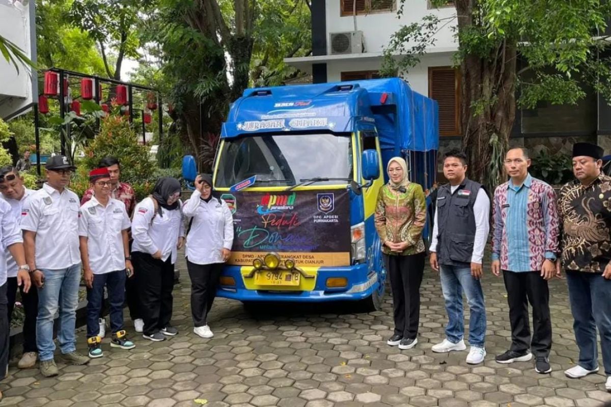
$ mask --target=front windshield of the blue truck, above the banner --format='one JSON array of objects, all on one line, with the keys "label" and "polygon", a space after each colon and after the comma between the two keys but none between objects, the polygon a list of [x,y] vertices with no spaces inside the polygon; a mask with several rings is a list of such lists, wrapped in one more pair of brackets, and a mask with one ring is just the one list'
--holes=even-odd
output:
[{"label": "front windshield of the blue truck, above the banner", "polygon": [[[253,175],[266,186],[288,187],[310,178],[353,179],[349,134],[277,134],[225,140],[216,187],[226,188]],[[316,185],[338,184],[336,180]]]}]

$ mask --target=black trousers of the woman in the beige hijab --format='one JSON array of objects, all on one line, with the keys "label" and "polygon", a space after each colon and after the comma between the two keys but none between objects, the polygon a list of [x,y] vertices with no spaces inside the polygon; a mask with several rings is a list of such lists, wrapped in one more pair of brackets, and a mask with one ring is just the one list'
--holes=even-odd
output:
[{"label": "black trousers of the woman in the beige hijab", "polygon": [[395,335],[415,339],[420,322],[420,284],[424,273],[425,253],[410,256],[387,256],[386,270],[392,290]]}]

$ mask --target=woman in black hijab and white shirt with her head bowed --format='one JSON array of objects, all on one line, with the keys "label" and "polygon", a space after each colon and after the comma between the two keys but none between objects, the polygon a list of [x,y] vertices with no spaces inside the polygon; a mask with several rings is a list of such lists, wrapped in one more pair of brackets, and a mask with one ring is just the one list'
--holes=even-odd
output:
[{"label": "woman in black hijab and white shirt with her head bowed", "polygon": [[142,304],[145,339],[159,341],[178,333],[170,325],[174,264],[185,242],[180,182],[160,178],[153,193],[134,209],[131,261]]}]

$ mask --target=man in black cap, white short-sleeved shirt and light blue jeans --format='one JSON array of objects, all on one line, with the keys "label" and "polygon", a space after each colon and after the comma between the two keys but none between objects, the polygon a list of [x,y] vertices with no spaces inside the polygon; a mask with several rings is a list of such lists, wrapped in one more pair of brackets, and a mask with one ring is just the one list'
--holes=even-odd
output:
[{"label": "man in black cap, white short-sleeved shirt and light blue jeans", "polygon": [[38,287],[36,342],[40,373],[56,376],[53,322],[59,310],[57,342],[67,364],[89,363],[76,351],[76,307],[81,282],[76,193],[67,189],[76,169],[64,156],[49,158],[46,182],[30,195],[21,210],[21,229],[27,265]]}]

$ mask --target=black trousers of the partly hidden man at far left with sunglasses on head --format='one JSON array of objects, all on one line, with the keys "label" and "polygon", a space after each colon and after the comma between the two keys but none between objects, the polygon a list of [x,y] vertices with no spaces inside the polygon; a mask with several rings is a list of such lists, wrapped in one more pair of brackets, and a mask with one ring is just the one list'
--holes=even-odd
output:
[{"label": "black trousers of the partly hidden man at far left with sunglasses on head", "polygon": [[6,283],[6,298],[9,301],[7,304],[9,312],[9,326],[13,315],[13,309],[15,308],[17,289],[19,289],[21,294],[21,304],[23,304],[23,311],[25,313],[25,319],[23,321],[23,352],[37,352],[36,317],[38,316],[38,290],[36,289],[36,286],[32,284],[29,292],[23,292],[23,284],[21,284],[21,287],[18,287],[16,277],[7,278]]}]

